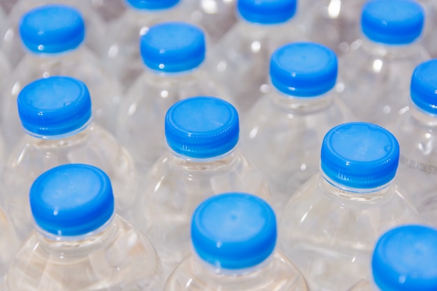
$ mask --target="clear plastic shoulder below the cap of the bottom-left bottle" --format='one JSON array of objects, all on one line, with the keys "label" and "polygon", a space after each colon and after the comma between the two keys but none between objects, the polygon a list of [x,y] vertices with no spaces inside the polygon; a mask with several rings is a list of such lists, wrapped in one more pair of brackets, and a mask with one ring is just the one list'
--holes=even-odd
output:
[{"label": "clear plastic shoulder below the cap of the bottom-left bottle", "polygon": [[10,265],[8,291],[161,290],[162,269],[144,234],[115,215],[101,232],[77,240],[33,231]]}]

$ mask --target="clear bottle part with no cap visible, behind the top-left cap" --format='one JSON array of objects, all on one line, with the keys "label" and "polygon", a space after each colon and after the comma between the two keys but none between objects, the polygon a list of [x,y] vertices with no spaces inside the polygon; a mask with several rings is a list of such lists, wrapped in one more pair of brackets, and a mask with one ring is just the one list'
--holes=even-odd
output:
[{"label": "clear bottle part with no cap visible, behind the top-left cap", "polygon": [[[4,1],[4,0],[2,0]],[[53,5],[53,4],[63,4],[68,6],[73,6],[83,17],[85,26],[87,27],[87,36],[84,40],[85,45],[89,49],[93,50],[99,56],[103,50],[102,44],[105,36],[105,24],[98,13],[94,10],[94,5],[96,1],[92,0],[18,0],[14,3],[12,10],[8,15],[9,25],[8,29],[4,34],[2,34],[2,48],[5,50],[6,54],[10,59],[10,63],[16,66],[24,54],[26,54],[27,49],[22,47],[22,40],[20,39],[20,19],[22,15],[26,14],[29,10],[34,8]],[[43,21],[43,20],[41,20]]]}]

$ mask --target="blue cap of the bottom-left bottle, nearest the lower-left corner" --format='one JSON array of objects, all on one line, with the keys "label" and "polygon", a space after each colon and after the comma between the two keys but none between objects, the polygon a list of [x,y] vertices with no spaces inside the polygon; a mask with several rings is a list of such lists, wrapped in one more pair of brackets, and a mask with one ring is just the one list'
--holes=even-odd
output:
[{"label": "blue cap of the bottom-left bottle, nearest the lower-left corner", "polygon": [[45,232],[62,237],[87,234],[114,213],[111,181],[91,165],[54,167],[32,184],[30,206],[36,225]]}]

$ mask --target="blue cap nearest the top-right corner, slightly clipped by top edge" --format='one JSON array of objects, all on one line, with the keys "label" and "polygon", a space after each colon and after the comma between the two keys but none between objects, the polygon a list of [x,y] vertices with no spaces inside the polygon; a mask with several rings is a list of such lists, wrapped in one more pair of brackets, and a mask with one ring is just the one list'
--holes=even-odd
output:
[{"label": "blue cap nearest the top-right corner, slightly clipped by top edge", "polygon": [[378,43],[413,43],[422,33],[423,25],[424,10],[413,0],[371,0],[363,6],[362,31]]}]

